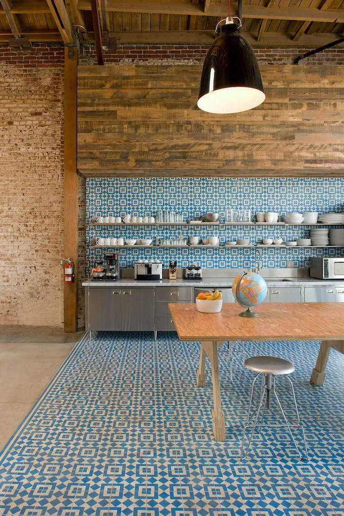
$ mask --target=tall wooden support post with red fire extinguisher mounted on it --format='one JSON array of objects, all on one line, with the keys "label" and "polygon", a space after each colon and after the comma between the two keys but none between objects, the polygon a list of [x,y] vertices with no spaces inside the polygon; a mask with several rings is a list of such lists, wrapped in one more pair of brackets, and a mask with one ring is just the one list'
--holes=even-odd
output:
[{"label": "tall wooden support post with red fire extinguisher mounted on it", "polygon": [[[72,55],[70,55],[72,53]],[[70,56],[70,57],[69,57]],[[63,321],[65,332],[77,330],[78,308],[78,176],[76,170],[76,108],[77,108],[76,47],[64,49],[64,258],[75,264],[74,283],[64,283]]]}]

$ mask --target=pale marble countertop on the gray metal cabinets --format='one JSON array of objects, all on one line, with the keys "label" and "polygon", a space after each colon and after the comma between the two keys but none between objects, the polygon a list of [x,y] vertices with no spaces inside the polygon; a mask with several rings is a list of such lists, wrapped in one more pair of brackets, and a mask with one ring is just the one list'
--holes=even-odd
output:
[{"label": "pale marble countertop on the gray metal cabinets", "polygon": [[[184,280],[178,278],[176,280],[163,279],[160,281],[142,281],[134,280],[134,278],[125,278],[118,281],[95,281],[87,280],[83,282],[84,287],[218,287],[231,288],[234,278],[204,278],[202,281]],[[344,280],[318,280],[315,278],[298,278],[288,281],[282,281],[283,278],[265,278],[269,287],[288,287],[288,286],[337,286],[344,287]]]}]

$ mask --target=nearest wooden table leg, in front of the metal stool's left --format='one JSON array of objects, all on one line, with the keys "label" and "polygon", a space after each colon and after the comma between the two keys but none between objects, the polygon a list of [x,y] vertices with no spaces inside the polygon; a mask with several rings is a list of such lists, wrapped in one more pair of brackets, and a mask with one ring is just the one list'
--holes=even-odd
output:
[{"label": "nearest wooden table leg, in front of the metal stool's left", "polygon": [[202,342],[203,351],[208,355],[211,362],[212,395],[214,397],[214,409],[212,410],[212,431],[214,432],[214,437],[216,441],[226,440],[224,414],[221,408],[218,360],[218,346],[221,344],[222,343],[218,342]]}]

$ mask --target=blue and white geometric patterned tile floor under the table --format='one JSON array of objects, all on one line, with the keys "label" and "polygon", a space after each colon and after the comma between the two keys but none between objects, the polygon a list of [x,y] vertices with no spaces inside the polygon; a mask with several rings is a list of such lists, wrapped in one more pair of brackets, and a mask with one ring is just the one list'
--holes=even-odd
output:
[{"label": "blue and white geometric patterned tile floor under the table", "polygon": [[[344,516],[344,357],[310,385],[319,343],[248,343],[296,364],[309,460],[284,429],[254,435],[240,461],[253,375],[219,356],[226,442],[212,437],[211,368],[175,333],[99,332],[75,346],[0,458],[0,516]],[[287,413],[291,397],[277,382]],[[274,415],[267,415],[268,421]],[[297,435],[300,449],[302,441]]]}]

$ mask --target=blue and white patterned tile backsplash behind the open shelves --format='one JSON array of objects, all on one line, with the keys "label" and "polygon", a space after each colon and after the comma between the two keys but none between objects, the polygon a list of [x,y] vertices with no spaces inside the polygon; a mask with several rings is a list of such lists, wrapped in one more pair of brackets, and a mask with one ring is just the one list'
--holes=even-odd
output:
[{"label": "blue and white patterned tile backsplash behind the open shelves", "polygon": [[[97,216],[155,215],[162,211],[183,213],[184,220],[216,211],[224,220],[227,208],[250,208],[258,211],[287,212],[317,211],[343,212],[344,181],[342,178],[88,178],[86,186],[87,221]],[[218,235],[220,241],[247,237],[256,243],[264,237],[283,237],[292,240],[309,235],[310,227],[268,225],[233,225],[192,227],[159,224],[88,225],[87,272],[94,260],[104,256],[106,249],[91,248],[94,237],[156,238],[206,237]],[[139,258],[157,259],[168,266],[170,259],[178,267],[192,261],[203,267],[251,267],[251,248],[120,248],[121,267],[131,267]],[[344,248],[263,248],[264,267],[307,267],[310,256],[344,255]],[[109,248],[109,251],[111,249]]]}]

